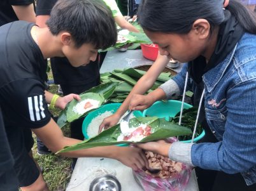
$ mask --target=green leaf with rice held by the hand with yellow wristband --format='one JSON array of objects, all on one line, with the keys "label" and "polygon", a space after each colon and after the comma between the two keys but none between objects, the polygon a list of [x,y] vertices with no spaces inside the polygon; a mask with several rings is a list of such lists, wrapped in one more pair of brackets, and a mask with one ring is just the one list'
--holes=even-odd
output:
[{"label": "green leaf with rice held by the hand with yellow wristband", "polygon": [[[80,97],[81,97],[81,100],[92,99],[92,100],[99,101],[99,107],[105,102],[104,96],[99,94],[99,93],[92,93],[92,92],[84,93],[83,95],[80,95]],[[66,114],[67,114],[67,121],[68,122],[75,121],[76,119],[79,119],[80,117],[83,117],[86,114],[88,114],[90,111],[92,111],[92,110],[89,110],[89,111],[87,111],[87,112],[85,112],[83,114],[78,114],[78,113],[74,112],[73,108],[78,103],[79,102],[77,100],[72,100],[69,103],[69,106],[68,106],[67,112],[66,112]]]}]

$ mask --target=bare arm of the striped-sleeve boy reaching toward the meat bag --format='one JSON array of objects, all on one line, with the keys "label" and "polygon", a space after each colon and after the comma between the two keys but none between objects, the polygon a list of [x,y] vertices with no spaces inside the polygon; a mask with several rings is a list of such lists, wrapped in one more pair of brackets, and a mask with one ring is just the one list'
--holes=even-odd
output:
[{"label": "bare arm of the striped-sleeve boy reaching toward the meat bag", "polygon": [[[42,128],[32,129],[32,131],[54,153],[66,146],[82,142],[81,140],[65,137],[53,119]],[[140,148],[136,147],[94,147],[65,152],[60,155],[65,157],[108,157],[117,159],[134,170],[141,169],[147,165],[145,154]]]}]

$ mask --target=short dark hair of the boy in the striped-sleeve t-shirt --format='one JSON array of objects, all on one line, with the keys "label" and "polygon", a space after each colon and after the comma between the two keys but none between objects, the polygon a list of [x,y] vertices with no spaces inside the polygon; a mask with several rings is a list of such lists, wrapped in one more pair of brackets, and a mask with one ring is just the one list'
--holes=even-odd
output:
[{"label": "short dark hair of the boy in the striped-sleeve t-shirt", "polygon": [[69,32],[76,48],[91,43],[96,49],[106,49],[117,42],[112,12],[101,0],[59,0],[46,25],[53,35]]}]

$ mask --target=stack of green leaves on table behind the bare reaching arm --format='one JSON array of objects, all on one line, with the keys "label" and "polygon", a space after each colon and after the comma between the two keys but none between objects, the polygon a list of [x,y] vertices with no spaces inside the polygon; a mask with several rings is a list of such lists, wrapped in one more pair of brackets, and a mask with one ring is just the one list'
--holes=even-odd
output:
[{"label": "stack of green leaves on table behind the bare reaching arm", "polygon": [[[110,102],[124,102],[133,86],[145,73],[146,72],[143,70],[129,68],[124,70],[113,70],[112,72],[101,74],[101,82],[103,84],[108,82],[118,82],[117,88],[109,98]],[[173,76],[171,76],[170,72],[162,72],[148,92],[158,88],[161,84],[171,79],[171,77]]]}]

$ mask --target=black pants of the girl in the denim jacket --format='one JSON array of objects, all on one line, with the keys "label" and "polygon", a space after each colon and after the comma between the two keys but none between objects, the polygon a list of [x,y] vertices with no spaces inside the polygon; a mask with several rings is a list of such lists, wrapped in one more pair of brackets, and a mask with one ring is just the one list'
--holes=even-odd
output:
[{"label": "black pants of the girl in the denim jacket", "polygon": [[[218,140],[211,133],[210,128],[204,125],[206,135],[199,143],[211,142]],[[256,183],[247,186],[241,173],[230,175],[221,171],[212,171],[196,168],[197,183],[200,191],[256,191]]]}]

